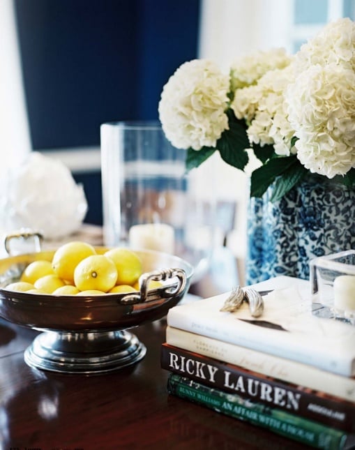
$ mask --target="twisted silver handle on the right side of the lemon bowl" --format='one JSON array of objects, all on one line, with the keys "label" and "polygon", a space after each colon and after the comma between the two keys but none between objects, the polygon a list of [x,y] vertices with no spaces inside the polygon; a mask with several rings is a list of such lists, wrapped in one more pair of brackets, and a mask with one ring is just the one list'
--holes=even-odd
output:
[{"label": "twisted silver handle on the right side of the lemon bowl", "polygon": [[[133,305],[135,303],[143,303],[148,297],[148,287],[150,280],[162,281],[169,278],[177,278],[178,282],[174,285],[167,286],[165,292],[171,296],[177,296],[186,288],[186,272],[183,269],[157,269],[155,271],[143,273],[139,278],[140,292],[139,294],[126,295],[121,299],[123,305]],[[164,287],[164,286],[163,286]]]}]

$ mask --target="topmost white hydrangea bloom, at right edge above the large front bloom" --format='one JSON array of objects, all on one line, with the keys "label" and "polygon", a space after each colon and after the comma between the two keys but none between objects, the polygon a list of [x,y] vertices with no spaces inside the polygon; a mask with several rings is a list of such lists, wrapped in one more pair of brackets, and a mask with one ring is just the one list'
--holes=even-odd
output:
[{"label": "topmost white hydrangea bloom, at right edge above the large front bloom", "polygon": [[345,17],[328,23],[296,54],[297,74],[312,65],[348,64],[355,70],[355,22]]}]

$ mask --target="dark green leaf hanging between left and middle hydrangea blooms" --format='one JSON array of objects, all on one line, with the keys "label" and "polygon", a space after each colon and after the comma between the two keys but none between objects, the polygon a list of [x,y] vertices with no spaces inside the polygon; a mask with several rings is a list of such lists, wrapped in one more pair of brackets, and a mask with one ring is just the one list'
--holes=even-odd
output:
[{"label": "dark green leaf hanging between left and middle hydrangea blooms", "polygon": [[243,120],[236,119],[232,110],[227,111],[229,130],[222,133],[217,141],[217,148],[225,163],[243,170],[248,164],[248,153],[250,147],[247,127]]}]

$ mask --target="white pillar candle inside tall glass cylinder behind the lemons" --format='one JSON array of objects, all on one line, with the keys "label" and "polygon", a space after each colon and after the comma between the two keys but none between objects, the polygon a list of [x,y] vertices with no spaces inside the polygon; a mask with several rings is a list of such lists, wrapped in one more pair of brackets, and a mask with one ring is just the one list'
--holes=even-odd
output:
[{"label": "white pillar candle inside tall glass cylinder behind the lemons", "polygon": [[129,243],[132,248],[174,254],[174,228],[166,223],[133,225],[129,231]]}]

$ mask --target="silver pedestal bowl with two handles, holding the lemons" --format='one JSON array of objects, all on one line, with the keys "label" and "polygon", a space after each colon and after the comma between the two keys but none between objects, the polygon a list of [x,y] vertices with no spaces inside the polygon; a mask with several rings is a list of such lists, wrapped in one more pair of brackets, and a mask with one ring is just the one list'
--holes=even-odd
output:
[{"label": "silver pedestal bowl with two handles, holding the lemons", "polygon": [[[104,253],[107,248],[96,248]],[[52,260],[53,251],[40,251],[0,260],[0,317],[41,331],[25,350],[31,367],[60,373],[109,373],[137,363],[146,347],[127,331],[164,317],[186,294],[192,267],[179,257],[135,250],[143,275],[139,292],[87,297],[54,296],[6,290],[34,260]],[[148,289],[150,280],[162,287]]]}]

